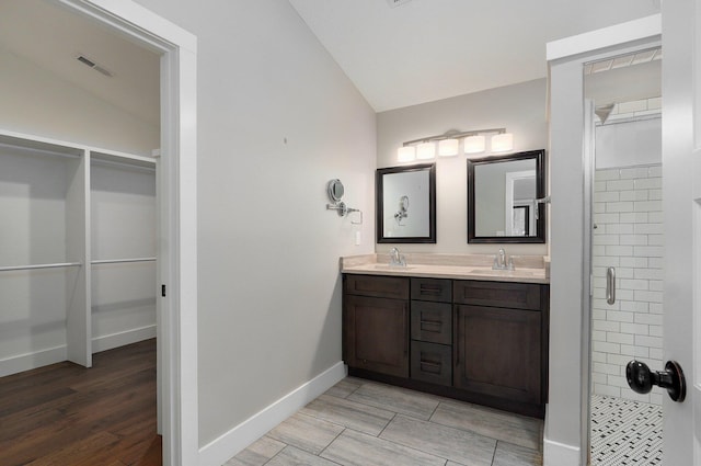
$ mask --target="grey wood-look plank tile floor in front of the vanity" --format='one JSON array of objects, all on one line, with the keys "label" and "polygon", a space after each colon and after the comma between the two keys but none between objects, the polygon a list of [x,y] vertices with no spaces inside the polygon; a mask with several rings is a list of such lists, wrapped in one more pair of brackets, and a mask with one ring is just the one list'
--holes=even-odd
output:
[{"label": "grey wood-look plank tile floor in front of the vanity", "polygon": [[346,377],[225,466],[536,466],[540,419]]}]

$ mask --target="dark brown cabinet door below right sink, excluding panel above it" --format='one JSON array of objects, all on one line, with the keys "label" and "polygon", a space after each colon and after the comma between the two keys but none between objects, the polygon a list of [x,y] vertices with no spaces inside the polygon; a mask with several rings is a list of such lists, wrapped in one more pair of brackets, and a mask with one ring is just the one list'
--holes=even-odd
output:
[{"label": "dark brown cabinet door below right sink, excluding panel above it", "polygon": [[456,306],[453,384],[515,401],[541,402],[541,312]]}]

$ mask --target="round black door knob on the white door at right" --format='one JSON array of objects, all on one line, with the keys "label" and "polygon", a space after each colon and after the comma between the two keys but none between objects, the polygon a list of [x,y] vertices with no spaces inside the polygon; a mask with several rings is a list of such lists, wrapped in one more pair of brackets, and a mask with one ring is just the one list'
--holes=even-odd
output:
[{"label": "round black door knob on the white door at right", "polygon": [[687,380],[676,361],[667,361],[664,371],[651,371],[647,364],[631,361],[625,366],[628,386],[637,394],[648,394],[653,385],[666,388],[673,401],[681,402],[687,396]]}]

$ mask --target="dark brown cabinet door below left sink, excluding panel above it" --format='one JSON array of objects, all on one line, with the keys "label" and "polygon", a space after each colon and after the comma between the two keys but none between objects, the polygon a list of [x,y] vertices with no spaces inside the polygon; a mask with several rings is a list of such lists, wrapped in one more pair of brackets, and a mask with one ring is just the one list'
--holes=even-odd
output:
[{"label": "dark brown cabinet door below left sink, excluding panel above it", "polygon": [[409,302],[346,295],[343,332],[350,367],[409,377]]}]

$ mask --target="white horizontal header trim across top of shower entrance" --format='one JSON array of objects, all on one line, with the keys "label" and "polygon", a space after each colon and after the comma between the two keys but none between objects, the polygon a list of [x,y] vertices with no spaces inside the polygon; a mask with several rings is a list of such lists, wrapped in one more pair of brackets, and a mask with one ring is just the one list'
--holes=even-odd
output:
[{"label": "white horizontal header trim across top of shower entrance", "polygon": [[627,42],[646,39],[660,34],[662,14],[653,14],[640,20],[549,42],[545,44],[545,59],[551,61],[572,57],[573,55],[590,53]]}]

